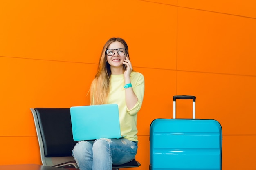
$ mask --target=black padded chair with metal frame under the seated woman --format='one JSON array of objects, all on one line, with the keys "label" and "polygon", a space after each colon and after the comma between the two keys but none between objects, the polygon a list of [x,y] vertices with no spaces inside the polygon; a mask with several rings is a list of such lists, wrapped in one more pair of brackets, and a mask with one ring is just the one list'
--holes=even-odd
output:
[{"label": "black padded chair with metal frame under the seated woman", "polygon": [[[73,140],[70,108],[31,108],[36,126],[42,164],[59,168],[76,168],[72,157],[76,145]],[[139,167],[133,159],[122,164],[113,165],[112,169]]]}]

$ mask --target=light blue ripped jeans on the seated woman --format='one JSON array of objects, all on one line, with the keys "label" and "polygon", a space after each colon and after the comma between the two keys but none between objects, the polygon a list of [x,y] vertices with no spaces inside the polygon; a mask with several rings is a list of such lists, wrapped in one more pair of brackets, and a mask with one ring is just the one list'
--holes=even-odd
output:
[{"label": "light blue ripped jeans on the seated woman", "polygon": [[128,139],[101,138],[79,141],[72,155],[80,170],[112,170],[112,164],[120,165],[135,158],[137,142]]}]

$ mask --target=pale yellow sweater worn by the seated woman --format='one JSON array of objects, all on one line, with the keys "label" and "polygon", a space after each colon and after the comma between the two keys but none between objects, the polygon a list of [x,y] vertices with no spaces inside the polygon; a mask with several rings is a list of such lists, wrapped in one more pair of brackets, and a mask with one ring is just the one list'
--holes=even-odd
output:
[{"label": "pale yellow sweater worn by the seated woman", "polygon": [[137,137],[137,113],[141,108],[144,97],[144,76],[139,72],[131,73],[131,84],[138,98],[137,104],[128,110],[125,101],[124,75],[110,76],[110,94],[108,104],[117,104],[119,108],[119,119],[121,135],[126,135],[130,141],[138,141]]}]

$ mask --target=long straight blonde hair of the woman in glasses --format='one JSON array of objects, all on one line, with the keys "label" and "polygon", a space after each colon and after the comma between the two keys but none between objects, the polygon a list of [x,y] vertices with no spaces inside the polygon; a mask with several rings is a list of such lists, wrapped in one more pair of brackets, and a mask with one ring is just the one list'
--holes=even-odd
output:
[{"label": "long straight blonde hair of the woman in glasses", "polygon": [[[94,80],[92,81],[90,88],[90,99],[92,105],[106,104],[106,102],[108,101],[111,70],[110,65],[107,62],[106,49],[112,42],[115,41],[121,42],[124,45],[124,48],[126,49],[126,55],[129,56],[128,45],[126,44],[124,39],[113,37],[106,42],[101,52],[97,73]],[[123,69],[125,71],[124,65]]]}]

